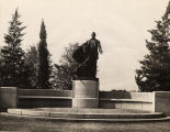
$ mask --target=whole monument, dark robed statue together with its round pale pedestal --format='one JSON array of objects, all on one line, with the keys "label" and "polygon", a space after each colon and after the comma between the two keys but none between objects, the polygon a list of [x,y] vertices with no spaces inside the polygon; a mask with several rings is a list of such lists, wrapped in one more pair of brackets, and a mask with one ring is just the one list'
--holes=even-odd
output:
[{"label": "whole monument, dark robed statue together with its round pale pedestal", "polygon": [[72,107],[98,108],[99,79],[97,78],[97,63],[99,53],[102,54],[100,41],[92,32],[91,38],[79,46],[72,58],[79,64],[72,76]]}]

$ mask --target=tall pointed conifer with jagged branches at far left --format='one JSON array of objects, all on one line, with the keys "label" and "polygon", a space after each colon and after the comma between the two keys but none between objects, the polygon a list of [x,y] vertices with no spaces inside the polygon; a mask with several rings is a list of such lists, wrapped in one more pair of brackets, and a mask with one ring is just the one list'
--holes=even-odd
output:
[{"label": "tall pointed conifer with jagged branches at far left", "polygon": [[1,50],[2,68],[1,68],[1,86],[24,87],[26,82],[26,72],[24,68],[24,51],[21,47],[21,42],[24,33],[22,31],[22,22],[19,21],[20,14],[18,9],[12,15],[8,34],[4,34],[5,46]]}]

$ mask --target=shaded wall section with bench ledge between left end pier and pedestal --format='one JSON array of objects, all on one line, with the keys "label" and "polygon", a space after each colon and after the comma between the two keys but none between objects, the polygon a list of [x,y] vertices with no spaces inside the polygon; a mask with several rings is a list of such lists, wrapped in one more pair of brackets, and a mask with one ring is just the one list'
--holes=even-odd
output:
[{"label": "shaded wall section with bench ledge between left end pier and pedestal", "polygon": [[19,89],[19,108],[71,107],[71,90]]}]

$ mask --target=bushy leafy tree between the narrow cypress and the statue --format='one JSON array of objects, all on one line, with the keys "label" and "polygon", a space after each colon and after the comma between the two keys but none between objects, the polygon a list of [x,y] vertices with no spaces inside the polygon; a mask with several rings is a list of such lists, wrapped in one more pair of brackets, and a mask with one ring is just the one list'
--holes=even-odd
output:
[{"label": "bushy leafy tree between the narrow cypress and the statue", "polygon": [[73,51],[78,47],[78,43],[69,44],[65,47],[64,54],[58,64],[54,65],[53,87],[56,89],[72,89],[72,72],[76,70],[78,64],[72,58]]}]

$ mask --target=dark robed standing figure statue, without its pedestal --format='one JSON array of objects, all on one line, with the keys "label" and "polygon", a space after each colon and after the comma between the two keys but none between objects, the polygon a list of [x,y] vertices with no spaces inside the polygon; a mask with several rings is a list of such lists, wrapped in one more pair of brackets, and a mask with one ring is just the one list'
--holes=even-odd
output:
[{"label": "dark robed standing figure statue, without its pedestal", "polygon": [[76,77],[95,78],[99,53],[102,54],[102,47],[100,41],[95,38],[95,33],[92,32],[91,38],[73,52],[72,58],[79,63],[75,72]]}]

